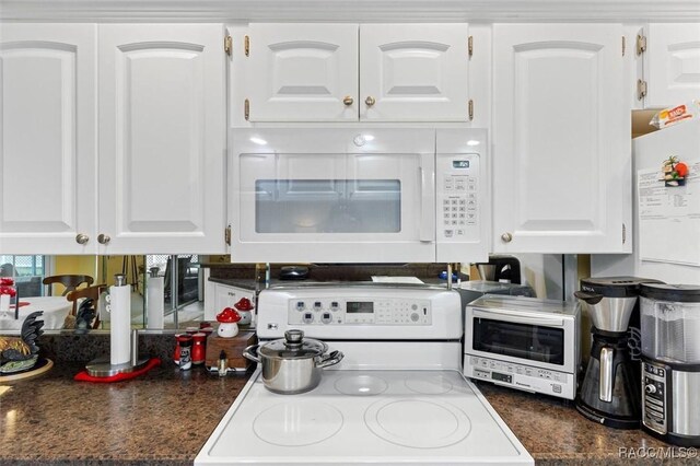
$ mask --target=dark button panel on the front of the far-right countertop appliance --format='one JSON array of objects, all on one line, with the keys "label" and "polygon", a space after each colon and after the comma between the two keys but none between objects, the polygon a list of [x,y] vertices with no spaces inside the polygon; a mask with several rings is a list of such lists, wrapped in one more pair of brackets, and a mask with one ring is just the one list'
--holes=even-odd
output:
[{"label": "dark button panel on the front of the far-right countertop appliance", "polygon": [[642,422],[649,429],[665,434],[668,431],[666,405],[666,377],[669,368],[644,362],[642,374]]}]

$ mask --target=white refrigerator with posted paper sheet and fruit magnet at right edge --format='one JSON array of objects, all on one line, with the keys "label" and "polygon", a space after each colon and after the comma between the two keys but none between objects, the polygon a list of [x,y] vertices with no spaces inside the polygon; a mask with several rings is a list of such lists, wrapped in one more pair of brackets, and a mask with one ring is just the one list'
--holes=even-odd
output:
[{"label": "white refrigerator with posted paper sheet and fruit magnet at right edge", "polygon": [[[639,137],[632,148],[633,253],[592,256],[591,275],[700,284],[700,120]],[[689,167],[682,186],[663,180],[672,155]]]}]

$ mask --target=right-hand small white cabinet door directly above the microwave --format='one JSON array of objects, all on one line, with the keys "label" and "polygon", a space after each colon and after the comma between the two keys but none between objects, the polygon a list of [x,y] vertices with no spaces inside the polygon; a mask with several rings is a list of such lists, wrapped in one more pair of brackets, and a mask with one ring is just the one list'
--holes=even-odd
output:
[{"label": "right-hand small white cabinet door directly above the microwave", "polygon": [[466,24],[363,24],[360,118],[468,120],[467,44]]}]

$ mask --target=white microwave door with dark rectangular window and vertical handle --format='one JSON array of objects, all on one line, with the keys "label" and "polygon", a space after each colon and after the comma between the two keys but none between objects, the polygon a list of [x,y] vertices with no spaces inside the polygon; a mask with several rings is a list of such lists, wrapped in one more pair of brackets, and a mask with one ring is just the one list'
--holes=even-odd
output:
[{"label": "white microwave door with dark rectangular window and vertical handle", "polygon": [[430,237],[421,221],[434,219],[422,191],[431,188],[431,162],[415,153],[238,154],[232,258],[433,261],[434,244],[421,243]]}]

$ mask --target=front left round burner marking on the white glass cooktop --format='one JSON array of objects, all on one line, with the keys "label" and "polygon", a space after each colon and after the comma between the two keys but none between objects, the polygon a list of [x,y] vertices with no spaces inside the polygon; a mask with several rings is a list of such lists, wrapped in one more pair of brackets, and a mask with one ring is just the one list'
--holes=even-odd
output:
[{"label": "front left round burner marking on the white glass cooktop", "polygon": [[279,446],[305,446],[334,436],[342,415],[325,403],[289,401],[260,412],[253,422],[255,434]]}]

